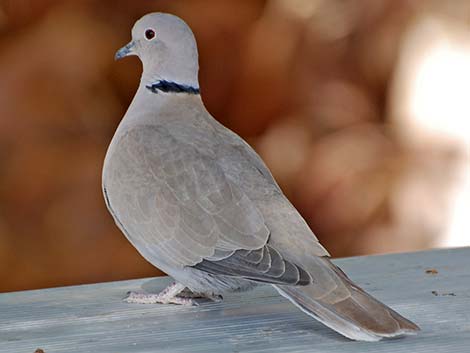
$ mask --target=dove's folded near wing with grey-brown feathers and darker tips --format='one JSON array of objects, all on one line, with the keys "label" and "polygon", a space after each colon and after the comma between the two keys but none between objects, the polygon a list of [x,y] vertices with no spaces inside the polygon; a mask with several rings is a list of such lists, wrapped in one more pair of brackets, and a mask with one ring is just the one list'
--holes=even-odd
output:
[{"label": "dove's folded near wing with grey-brown feathers and darker tips", "polygon": [[115,145],[105,193],[132,244],[157,266],[163,261],[268,283],[310,283],[305,271],[267,245],[262,213],[218,164],[210,141],[181,136],[187,137],[140,125]]}]

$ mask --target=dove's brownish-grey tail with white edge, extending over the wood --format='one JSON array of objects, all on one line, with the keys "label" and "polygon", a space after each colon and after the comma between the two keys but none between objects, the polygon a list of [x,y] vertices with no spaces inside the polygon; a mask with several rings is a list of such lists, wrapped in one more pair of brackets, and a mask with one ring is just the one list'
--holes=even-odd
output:
[{"label": "dove's brownish-grey tail with white edge, extending over the wood", "polygon": [[355,285],[346,274],[325,258],[330,267],[349,289],[349,296],[331,291],[318,296],[321,284],[279,286],[275,288],[306,314],[353,340],[378,341],[383,337],[416,334],[419,327],[382,304]]}]

